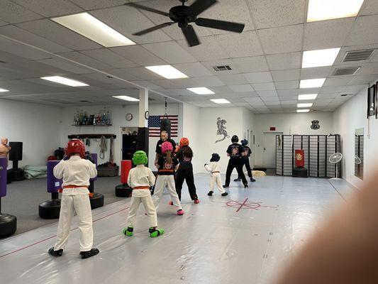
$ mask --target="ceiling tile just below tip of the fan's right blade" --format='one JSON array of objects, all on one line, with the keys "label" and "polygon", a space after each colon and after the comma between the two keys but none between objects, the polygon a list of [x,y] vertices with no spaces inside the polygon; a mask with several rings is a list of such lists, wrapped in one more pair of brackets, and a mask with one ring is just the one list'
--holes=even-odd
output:
[{"label": "ceiling tile just below tip of the fan's right blade", "polygon": [[255,31],[214,36],[230,58],[246,58],[263,54]]}]

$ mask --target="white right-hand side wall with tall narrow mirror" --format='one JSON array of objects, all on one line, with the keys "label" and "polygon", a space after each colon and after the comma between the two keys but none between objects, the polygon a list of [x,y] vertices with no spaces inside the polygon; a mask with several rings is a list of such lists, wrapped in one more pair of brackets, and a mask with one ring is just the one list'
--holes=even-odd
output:
[{"label": "white right-hand side wall with tall narrow mirror", "polygon": [[336,109],[333,120],[342,138],[343,178],[360,187],[362,180],[355,176],[355,129],[364,128],[364,180],[372,178],[377,169],[378,119],[367,119],[367,87]]}]

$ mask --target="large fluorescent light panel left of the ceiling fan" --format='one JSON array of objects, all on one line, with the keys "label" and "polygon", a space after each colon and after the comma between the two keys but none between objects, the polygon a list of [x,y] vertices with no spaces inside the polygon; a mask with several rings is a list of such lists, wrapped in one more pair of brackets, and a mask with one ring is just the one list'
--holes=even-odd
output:
[{"label": "large fluorescent light panel left of the ceiling fan", "polygon": [[118,33],[118,31],[94,18],[94,16],[91,16],[89,13],[77,13],[75,15],[51,19],[106,48],[135,44],[133,41],[126,38],[126,36],[121,35],[121,33]]}]

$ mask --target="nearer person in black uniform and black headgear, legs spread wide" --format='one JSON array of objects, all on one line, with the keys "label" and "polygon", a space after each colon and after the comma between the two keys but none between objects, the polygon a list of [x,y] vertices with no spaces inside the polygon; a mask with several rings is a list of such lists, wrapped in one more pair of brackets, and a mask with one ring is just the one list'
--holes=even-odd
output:
[{"label": "nearer person in black uniform and black headgear, legs spread wide", "polygon": [[231,138],[232,144],[227,148],[227,155],[230,157],[230,160],[228,160],[226,182],[223,187],[229,187],[231,173],[233,173],[234,168],[236,168],[236,170],[238,171],[238,176],[242,179],[244,187],[248,187],[247,179],[243,174],[243,160],[241,158],[241,154],[243,153],[243,146],[241,146],[238,141],[238,136],[234,135]]}]

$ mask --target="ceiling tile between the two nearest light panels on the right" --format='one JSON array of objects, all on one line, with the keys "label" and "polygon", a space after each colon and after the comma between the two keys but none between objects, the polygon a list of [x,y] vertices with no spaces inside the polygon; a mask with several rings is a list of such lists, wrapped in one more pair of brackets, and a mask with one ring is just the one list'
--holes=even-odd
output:
[{"label": "ceiling tile between the two nearest light panels on the right", "polygon": [[306,23],[304,50],[342,47],[353,23],[354,17]]}]

